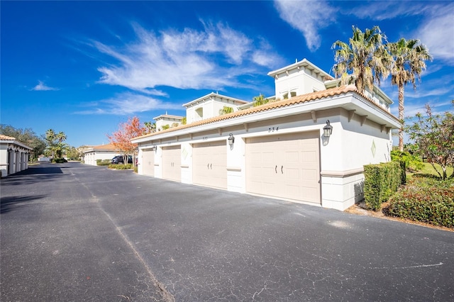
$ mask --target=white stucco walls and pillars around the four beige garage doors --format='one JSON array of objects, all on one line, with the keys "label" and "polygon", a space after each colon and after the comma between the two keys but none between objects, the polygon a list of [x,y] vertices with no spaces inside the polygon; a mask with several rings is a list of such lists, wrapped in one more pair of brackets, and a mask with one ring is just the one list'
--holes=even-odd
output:
[{"label": "white stucco walls and pillars around the four beige garage doors", "polygon": [[[353,106],[356,110],[347,110],[343,104],[350,108]],[[321,106],[325,106],[324,109]],[[299,111],[303,108],[304,111]],[[155,177],[161,178],[162,147],[181,145],[181,181],[192,184],[193,144],[225,140],[227,189],[245,193],[247,138],[317,131],[320,143],[320,203],[323,207],[343,211],[363,198],[362,167],[365,164],[389,161],[392,146],[389,128],[373,121],[374,114],[382,114],[382,111],[370,111],[371,108],[374,109],[374,106],[364,103],[353,94],[326,98],[300,106],[284,106],[246,115],[237,124],[231,124],[233,120],[227,120],[190,128],[185,133],[184,130],[175,130],[175,133],[157,134],[157,138],[153,138],[153,135],[149,140],[140,142],[139,149],[146,145],[157,145]],[[323,137],[323,126],[327,120],[333,126],[330,138]],[[375,120],[383,123],[380,118]],[[233,147],[227,143],[229,133],[235,137]],[[139,168],[139,173],[140,171]]]}]

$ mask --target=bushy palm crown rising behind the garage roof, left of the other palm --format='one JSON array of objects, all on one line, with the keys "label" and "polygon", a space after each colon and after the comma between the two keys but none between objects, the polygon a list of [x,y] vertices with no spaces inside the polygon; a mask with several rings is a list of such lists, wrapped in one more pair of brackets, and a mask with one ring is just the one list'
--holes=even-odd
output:
[{"label": "bushy palm crown rising behind the garage roof, left of the other palm", "polygon": [[372,29],[366,28],[364,33],[355,26],[353,37],[348,43],[337,40],[332,49],[336,49],[333,72],[336,77],[341,77],[342,84],[348,84],[353,75],[355,86],[358,91],[365,88],[372,89],[374,82],[380,85],[380,78],[387,77],[391,57],[384,47],[384,34],[378,26]]}]

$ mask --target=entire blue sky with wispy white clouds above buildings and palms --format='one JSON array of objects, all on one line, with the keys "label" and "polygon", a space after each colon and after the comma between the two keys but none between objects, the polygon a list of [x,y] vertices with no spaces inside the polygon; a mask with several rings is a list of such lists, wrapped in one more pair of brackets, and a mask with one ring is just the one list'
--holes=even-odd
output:
[{"label": "entire blue sky with wispy white clouds above buildings and palms", "polygon": [[[453,1],[1,1],[1,123],[52,128],[67,143],[101,145],[118,123],[218,91],[274,95],[267,72],[307,60],[331,72],[336,40],[380,26],[389,41],[418,38],[433,61],[406,116],[452,110]],[[389,79],[381,88],[393,100]]]}]

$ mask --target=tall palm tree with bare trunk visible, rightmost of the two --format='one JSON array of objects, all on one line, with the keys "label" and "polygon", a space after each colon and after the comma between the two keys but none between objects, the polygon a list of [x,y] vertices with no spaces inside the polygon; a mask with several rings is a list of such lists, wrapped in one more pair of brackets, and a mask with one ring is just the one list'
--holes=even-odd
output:
[{"label": "tall palm tree with bare trunk visible, rightmost of the two", "polygon": [[416,89],[416,79],[421,81],[421,73],[426,69],[426,60],[432,60],[427,48],[419,40],[401,38],[396,43],[388,43],[387,48],[392,55],[391,84],[399,89],[399,150],[404,151],[404,87],[413,84]]}]

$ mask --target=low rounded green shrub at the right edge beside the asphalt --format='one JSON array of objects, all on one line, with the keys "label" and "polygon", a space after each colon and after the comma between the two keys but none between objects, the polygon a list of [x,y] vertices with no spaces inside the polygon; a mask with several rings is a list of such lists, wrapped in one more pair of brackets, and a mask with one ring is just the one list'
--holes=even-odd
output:
[{"label": "low rounded green shrub at the right edge beside the asphalt", "polygon": [[454,228],[454,179],[412,177],[389,199],[389,214]]}]

